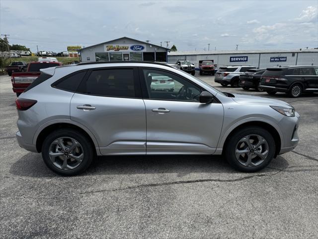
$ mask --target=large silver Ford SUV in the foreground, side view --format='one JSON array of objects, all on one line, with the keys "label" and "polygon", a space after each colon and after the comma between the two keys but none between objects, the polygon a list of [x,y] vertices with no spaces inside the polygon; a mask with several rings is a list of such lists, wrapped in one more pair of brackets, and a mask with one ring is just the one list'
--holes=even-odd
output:
[{"label": "large silver Ford SUV in the foreground, side view", "polygon": [[[96,155],[132,154],[223,154],[236,169],[254,172],[299,140],[300,116],[288,103],[222,93],[165,64],[41,71],[16,99],[16,137],[62,175],[83,172]],[[173,80],[173,91],[153,89],[154,76]]]}]

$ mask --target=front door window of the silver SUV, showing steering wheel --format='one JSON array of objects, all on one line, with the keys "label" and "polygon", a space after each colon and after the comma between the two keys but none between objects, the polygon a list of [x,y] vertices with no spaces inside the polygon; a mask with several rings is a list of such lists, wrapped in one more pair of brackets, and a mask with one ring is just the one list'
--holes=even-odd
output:
[{"label": "front door window of the silver SUV, showing steering wheel", "polygon": [[199,102],[201,89],[191,82],[164,71],[144,69],[150,99]]}]

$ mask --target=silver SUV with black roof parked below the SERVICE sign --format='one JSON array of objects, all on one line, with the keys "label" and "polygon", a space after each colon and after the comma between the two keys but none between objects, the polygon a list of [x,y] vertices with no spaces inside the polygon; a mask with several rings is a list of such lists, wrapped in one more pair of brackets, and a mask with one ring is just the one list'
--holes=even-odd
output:
[{"label": "silver SUV with black roof parked below the SERVICE sign", "polygon": [[232,87],[239,87],[239,75],[243,74],[249,69],[255,69],[255,66],[225,66],[220,67],[214,78],[216,83],[222,86],[231,85]]}]

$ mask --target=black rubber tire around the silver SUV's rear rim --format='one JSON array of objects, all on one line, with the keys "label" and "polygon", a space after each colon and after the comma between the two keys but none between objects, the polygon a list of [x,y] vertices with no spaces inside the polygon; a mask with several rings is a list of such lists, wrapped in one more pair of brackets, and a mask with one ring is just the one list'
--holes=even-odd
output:
[{"label": "black rubber tire around the silver SUV's rear rim", "polygon": [[[50,151],[51,143],[53,143],[56,139],[58,139],[60,137],[73,138],[79,142],[79,144],[82,148],[83,157],[82,157],[79,165],[77,167],[75,167],[74,169],[67,169],[67,170],[61,169],[61,168],[57,167],[56,165],[54,165],[50,159],[49,151]],[[57,130],[51,132],[44,139],[44,142],[42,145],[42,157],[43,157],[45,164],[52,171],[56,172],[57,174],[60,174],[63,176],[74,176],[74,175],[77,175],[77,174],[84,172],[89,167],[93,158],[95,157],[95,152],[94,152],[93,146],[90,143],[90,140],[85,135],[83,135],[81,132],[79,132],[75,129],[72,129],[72,128],[61,128],[61,129],[57,129]],[[60,160],[59,158],[58,158],[58,160],[63,161],[63,160]],[[70,158],[70,160],[71,160],[71,158]]]}]

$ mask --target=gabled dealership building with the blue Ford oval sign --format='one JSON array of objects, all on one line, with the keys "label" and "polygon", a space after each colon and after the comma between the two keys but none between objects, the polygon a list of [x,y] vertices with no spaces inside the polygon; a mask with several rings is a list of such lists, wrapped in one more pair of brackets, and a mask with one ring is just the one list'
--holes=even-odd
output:
[{"label": "gabled dealership building with the blue Ford oval sign", "polygon": [[168,48],[121,37],[79,50],[81,62],[95,61],[167,61]]}]

